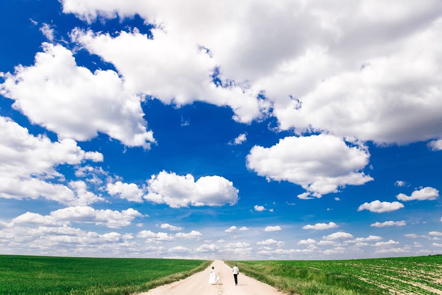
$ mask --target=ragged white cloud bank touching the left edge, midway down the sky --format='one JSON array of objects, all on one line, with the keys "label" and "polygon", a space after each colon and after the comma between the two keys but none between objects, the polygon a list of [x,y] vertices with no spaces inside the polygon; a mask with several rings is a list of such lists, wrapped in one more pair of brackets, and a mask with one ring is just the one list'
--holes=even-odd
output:
[{"label": "ragged white cloud bank touching the left edge, midway down the sky", "polygon": [[48,181],[64,181],[64,176],[56,171],[58,165],[75,165],[88,159],[102,160],[103,155],[84,151],[72,139],[52,142],[45,135],[31,135],[28,129],[16,122],[0,117],[1,198],[23,200],[42,197],[65,205],[103,201],[103,198],[87,192],[82,181],[71,181],[69,187]]}]

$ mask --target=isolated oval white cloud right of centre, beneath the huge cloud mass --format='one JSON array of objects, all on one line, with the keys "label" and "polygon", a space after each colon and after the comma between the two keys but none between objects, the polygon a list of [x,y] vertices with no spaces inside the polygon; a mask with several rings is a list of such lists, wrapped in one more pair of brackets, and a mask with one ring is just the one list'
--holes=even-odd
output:
[{"label": "isolated oval white cloud right of centre, beneath the huge cloud mass", "polygon": [[[360,172],[369,157],[365,148],[350,147],[330,134],[291,136],[270,148],[254,146],[247,156],[247,166],[268,180],[287,180],[321,197],[337,192],[339,187],[373,180]],[[308,199],[308,194],[298,198]]]}]

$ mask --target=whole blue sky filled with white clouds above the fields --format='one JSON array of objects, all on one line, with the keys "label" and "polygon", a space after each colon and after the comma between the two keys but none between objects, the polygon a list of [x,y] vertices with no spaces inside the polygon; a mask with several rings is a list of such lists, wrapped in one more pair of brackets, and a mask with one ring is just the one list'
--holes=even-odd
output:
[{"label": "whole blue sky filled with white clouds above the fields", "polygon": [[441,4],[209,2],[3,4],[1,253],[440,253]]}]

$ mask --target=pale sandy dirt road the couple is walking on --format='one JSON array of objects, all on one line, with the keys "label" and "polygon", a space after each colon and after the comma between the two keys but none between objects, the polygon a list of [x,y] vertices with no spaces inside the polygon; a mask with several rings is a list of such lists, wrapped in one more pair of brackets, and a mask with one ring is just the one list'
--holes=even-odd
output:
[{"label": "pale sandy dirt road the couple is walking on", "polygon": [[[220,277],[218,284],[210,285],[209,273],[215,266]],[[241,273],[238,276],[238,286],[235,286],[232,269],[221,260],[215,260],[204,271],[168,285],[160,286],[140,295],[282,295],[275,288],[261,283]]]}]

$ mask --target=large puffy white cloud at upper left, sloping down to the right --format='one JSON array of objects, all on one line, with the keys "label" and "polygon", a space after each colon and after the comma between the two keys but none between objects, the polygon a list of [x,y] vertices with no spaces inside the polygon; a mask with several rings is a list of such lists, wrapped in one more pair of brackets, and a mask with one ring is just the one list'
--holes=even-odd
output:
[{"label": "large puffy white cloud at upper left, sloping down to the right", "polygon": [[140,97],[125,90],[118,74],[77,66],[72,52],[61,45],[43,43],[34,65],[4,74],[0,94],[13,99],[13,108],[32,123],[60,138],[86,141],[102,132],[129,147],[150,148],[155,142],[146,131]]}]

